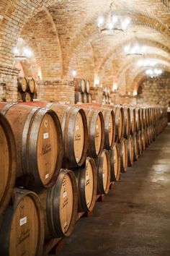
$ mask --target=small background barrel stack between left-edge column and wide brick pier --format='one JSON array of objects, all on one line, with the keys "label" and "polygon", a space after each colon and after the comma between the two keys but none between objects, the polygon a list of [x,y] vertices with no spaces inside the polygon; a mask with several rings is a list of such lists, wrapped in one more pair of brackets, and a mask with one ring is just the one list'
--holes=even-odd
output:
[{"label": "small background barrel stack between left-edge column and wide brick pier", "polygon": [[18,101],[30,102],[35,98],[37,87],[32,77],[18,77]]}]

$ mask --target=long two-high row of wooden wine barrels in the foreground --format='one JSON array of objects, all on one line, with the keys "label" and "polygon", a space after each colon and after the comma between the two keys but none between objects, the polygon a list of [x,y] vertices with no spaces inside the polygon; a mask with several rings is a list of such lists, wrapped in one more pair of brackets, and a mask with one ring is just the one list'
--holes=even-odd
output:
[{"label": "long two-high row of wooden wine barrels in the foreground", "polygon": [[0,255],[9,256],[42,255],[44,237],[69,236],[77,213],[93,210],[166,126],[164,108],[32,102],[0,112]]}]

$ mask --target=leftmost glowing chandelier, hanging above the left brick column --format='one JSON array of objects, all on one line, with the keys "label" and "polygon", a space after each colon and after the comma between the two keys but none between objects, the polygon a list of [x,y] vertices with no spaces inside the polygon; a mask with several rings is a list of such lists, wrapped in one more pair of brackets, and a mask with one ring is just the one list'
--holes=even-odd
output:
[{"label": "leftmost glowing chandelier, hanging above the left brick column", "polygon": [[27,46],[22,38],[18,38],[17,46],[13,48],[14,58],[19,61],[30,59],[33,56],[33,52],[30,47]]}]

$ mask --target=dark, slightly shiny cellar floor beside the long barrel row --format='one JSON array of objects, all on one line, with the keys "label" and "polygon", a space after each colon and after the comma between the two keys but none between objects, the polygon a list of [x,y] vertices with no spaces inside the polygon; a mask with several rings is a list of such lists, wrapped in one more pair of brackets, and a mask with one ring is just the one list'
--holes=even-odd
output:
[{"label": "dark, slightly shiny cellar floor beside the long barrel row", "polygon": [[60,256],[170,255],[170,127],[63,239]]}]

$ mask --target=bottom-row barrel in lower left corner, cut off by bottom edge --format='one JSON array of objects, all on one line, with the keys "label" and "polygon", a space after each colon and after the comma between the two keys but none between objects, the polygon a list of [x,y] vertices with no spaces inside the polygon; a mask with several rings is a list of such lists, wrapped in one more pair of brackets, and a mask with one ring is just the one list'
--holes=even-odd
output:
[{"label": "bottom-row barrel in lower left corner, cut off by bottom edge", "polygon": [[0,227],[0,255],[42,255],[44,223],[35,193],[15,189],[12,205],[6,208]]}]

